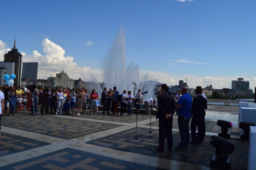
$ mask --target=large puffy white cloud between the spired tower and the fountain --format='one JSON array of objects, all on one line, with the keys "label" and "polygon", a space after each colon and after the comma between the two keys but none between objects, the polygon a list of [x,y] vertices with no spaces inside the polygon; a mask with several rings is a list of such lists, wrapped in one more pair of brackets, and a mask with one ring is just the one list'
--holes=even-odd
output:
[{"label": "large puffy white cloud between the spired tower and the fountain", "polygon": [[103,80],[102,70],[91,70],[90,67],[78,65],[74,62],[74,57],[65,56],[65,50],[49,39],[42,41],[42,47],[44,54],[34,50],[32,55],[23,57],[23,62],[38,62],[38,78],[56,76],[56,73],[64,68],[64,72],[67,72],[70,78],[90,80],[90,75],[94,75],[99,81]]}]

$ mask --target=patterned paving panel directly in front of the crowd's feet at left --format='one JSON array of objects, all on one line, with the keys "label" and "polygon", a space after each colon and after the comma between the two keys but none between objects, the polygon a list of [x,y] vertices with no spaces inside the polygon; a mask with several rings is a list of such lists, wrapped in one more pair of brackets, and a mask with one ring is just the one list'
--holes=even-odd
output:
[{"label": "patterned paving panel directly in front of the crowd's feet at left", "polygon": [[62,139],[73,139],[92,133],[112,129],[120,125],[109,123],[95,123],[76,119],[65,119],[58,116],[36,115],[29,116],[22,114],[4,117],[2,126],[21,129],[24,131],[40,133]]}]

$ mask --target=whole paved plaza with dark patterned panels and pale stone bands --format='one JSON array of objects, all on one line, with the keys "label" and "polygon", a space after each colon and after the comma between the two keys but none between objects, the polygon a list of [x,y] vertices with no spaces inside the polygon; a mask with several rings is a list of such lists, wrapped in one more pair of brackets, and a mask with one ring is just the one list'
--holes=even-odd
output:
[{"label": "whole paved plaza with dark patterned panels and pale stone bands", "polygon": [[[173,120],[173,143],[180,142],[177,115]],[[215,148],[209,144],[211,135],[218,135],[218,119],[232,121],[229,129],[236,147],[230,154],[231,168],[247,168],[248,142],[240,141],[237,106],[209,105],[206,111],[206,137],[202,144],[186,150],[157,152],[158,135],[150,134],[150,116],[138,115],[138,145],[136,115],[23,115],[2,117],[0,169],[184,169],[207,170]],[[158,120],[152,115],[152,132],[158,133]]]}]

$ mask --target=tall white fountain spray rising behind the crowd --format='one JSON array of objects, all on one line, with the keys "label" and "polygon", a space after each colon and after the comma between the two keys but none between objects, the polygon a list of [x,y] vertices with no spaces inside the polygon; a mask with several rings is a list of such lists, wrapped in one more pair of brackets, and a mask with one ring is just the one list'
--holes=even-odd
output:
[{"label": "tall white fountain spray rising behind the crowd", "polygon": [[[139,65],[130,63],[126,63],[125,57],[125,39],[126,39],[126,30],[123,30],[121,26],[118,36],[116,40],[110,47],[108,54],[106,55],[106,59],[104,62],[104,86],[107,88],[117,87],[120,93],[123,90],[133,92],[134,85],[132,82],[140,82],[140,74],[139,74]],[[145,80],[147,80],[148,74],[144,76],[142,83],[138,84],[137,90],[140,88],[142,92],[148,91],[148,94],[145,94],[144,98],[152,98],[154,96],[154,82],[151,81],[147,84],[144,84]],[[92,82],[98,82],[95,77],[92,77]],[[102,91],[102,87],[98,83],[93,84],[89,83],[87,85],[89,93],[92,89]],[[101,94],[101,93],[100,93]]]}]

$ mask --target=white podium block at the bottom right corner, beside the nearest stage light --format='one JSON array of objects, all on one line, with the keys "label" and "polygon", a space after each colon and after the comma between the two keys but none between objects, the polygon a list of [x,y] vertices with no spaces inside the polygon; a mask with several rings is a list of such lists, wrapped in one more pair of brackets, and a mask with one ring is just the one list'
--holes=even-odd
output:
[{"label": "white podium block at the bottom right corner, beside the nearest stage light", "polygon": [[256,126],[250,126],[248,170],[256,169]]}]

